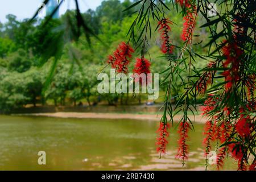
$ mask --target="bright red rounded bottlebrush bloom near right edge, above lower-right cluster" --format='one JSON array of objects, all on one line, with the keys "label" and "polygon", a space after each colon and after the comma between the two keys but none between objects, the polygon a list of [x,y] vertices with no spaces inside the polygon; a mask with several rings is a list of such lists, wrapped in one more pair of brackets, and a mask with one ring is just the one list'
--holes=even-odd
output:
[{"label": "bright red rounded bottlebrush bloom near right edge, above lower-right cluster", "polygon": [[241,115],[241,118],[236,123],[237,133],[242,137],[246,137],[250,135],[250,117],[244,118]]}]

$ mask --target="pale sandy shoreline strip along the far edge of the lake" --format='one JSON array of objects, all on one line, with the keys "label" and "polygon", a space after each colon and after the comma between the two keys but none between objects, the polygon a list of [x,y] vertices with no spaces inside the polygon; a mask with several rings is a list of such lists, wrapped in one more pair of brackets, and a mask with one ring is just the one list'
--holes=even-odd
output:
[{"label": "pale sandy shoreline strip along the far edge of the lake", "polygon": [[[97,119],[137,119],[147,121],[160,121],[162,114],[122,114],[122,113],[77,113],[77,112],[56,112],[56,113],[30,113],[30,114],[12,114],[12,115],[31,115],[55,118],[97,118]],[[175,115],[174,122],[179,122],[182,115]],[[192,122],[205,123],[207,118],[202,115],[189,115]]]}]

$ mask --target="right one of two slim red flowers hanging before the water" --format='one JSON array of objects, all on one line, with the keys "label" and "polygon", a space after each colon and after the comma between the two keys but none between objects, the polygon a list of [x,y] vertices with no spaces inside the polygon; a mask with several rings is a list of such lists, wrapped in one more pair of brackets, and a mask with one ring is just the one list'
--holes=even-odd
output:
[{"label": "right one of two slim red flowers hanging before the water", "polygon": [[188,129],[190,128],[188,122],[180,122],[178,133],[180,135],[180,139],[178,140],[179,148],[176,155],[177,159],[184,161],[188,159],[188,144],[186,141],[188,140]]}]

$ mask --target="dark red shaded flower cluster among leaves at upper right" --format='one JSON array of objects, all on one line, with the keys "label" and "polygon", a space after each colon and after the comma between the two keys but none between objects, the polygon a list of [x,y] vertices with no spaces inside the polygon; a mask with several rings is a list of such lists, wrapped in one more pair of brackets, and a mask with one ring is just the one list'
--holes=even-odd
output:
[{"label": "dark red shaded flower cluster among leaves at upper right", "polygon": [[222,73],[225,76],[225,89],[226,91],[232,88],[233,84],[239,80],[239,67],[240,67],[240,56],[243,54],[243,51],[238,48],[236,43],[229,43],[227,46],[223,47],[223,55],[226,57],[226,60],[223,63],[224,68],[230,68]]}]

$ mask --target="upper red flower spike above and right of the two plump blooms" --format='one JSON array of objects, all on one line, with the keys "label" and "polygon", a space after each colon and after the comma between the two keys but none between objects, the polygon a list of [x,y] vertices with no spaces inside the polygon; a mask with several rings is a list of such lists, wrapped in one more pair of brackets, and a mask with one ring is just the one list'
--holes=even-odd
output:
[{"label": "upper red flower spike above and right of the two plump blooms", "polygon": [[161,39],[162,39],[162,46],[161,50],[163,53],[172,53],[172,50],[174,49],[174,46],[171,46],[171,40],[169,33],[171,32],[170,25],[172,22],[169,19],[162,19],[159,21],[159,29],[158,31],[161,33]]}]

